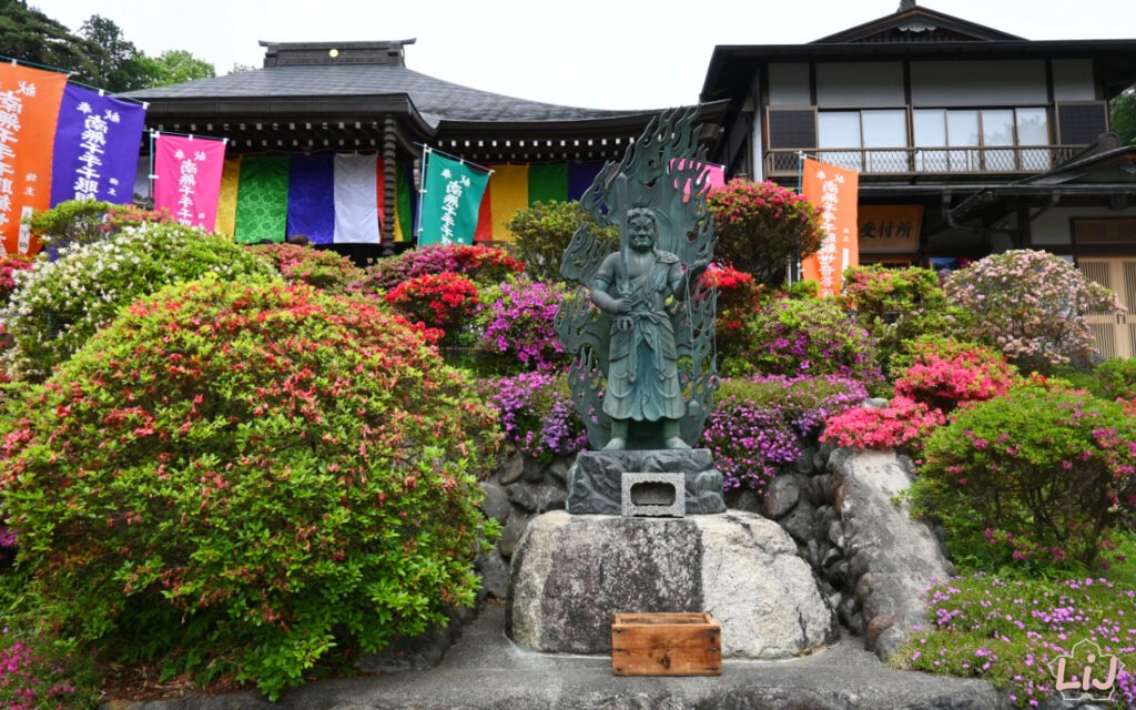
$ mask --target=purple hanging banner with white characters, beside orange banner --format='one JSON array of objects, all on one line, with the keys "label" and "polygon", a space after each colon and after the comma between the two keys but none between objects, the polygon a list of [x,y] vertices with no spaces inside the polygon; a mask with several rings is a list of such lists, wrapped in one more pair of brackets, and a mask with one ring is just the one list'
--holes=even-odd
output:
[{"label": "purple hanging banner with white characters, beside orange banner", "polygon": [[145,108],[68,84],[59,107],[51,207],[67,200],[130,204]]}]

